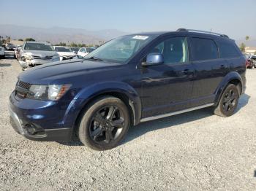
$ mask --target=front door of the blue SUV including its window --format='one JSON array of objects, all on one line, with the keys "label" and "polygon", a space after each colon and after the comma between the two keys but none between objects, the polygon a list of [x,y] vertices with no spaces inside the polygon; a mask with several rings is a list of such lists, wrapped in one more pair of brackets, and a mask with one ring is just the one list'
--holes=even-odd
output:
[{"label": "front door of the blue SUV including its window", "polygon": [[166,36],[151,47],[151,52],[162,53],[164,63],[141,66],[142,117],[187,109],[194,76],[187,37]]}]

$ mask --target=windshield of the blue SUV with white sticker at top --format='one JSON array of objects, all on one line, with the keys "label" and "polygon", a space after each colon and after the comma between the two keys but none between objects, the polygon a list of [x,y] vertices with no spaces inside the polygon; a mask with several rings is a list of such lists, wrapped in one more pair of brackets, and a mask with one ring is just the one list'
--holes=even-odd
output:
[{"label": "windshield of the blue SUV with white sticker at top", "polygon": [[126,63],[155,36],[127,35],[111,40],[86,55],[85,59]]}]

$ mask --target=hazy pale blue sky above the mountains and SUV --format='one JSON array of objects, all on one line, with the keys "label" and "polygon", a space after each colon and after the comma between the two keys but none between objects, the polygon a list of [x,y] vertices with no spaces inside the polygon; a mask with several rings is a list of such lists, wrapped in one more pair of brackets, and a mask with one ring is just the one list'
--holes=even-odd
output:
[{"label": "hazy pale blue sky above the mountains and SUV", "polygon": [[0,0],[0,7],[0,24],[128,33],[194,28],[256,38],[256,0]]}]

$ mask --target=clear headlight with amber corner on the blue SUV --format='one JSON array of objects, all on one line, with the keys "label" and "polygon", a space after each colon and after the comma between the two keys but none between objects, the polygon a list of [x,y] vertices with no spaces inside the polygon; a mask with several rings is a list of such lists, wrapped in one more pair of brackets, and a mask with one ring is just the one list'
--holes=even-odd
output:
[{"label": "clear headlight with amber corner on the blue SUV", "polygon": [[31,85],[27,98],[39,100],[59,100],[71,85]]}]

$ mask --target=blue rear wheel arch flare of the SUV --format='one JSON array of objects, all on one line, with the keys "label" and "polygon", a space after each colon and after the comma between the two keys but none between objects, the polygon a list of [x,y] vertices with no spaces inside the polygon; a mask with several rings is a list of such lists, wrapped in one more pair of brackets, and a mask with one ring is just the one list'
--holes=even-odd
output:
[{"label": "blue rear wheel arch flare of the SUV", "polygon": [[233,79],[237,79],[239,82],[241,82],[241,86],[242,86],[241,88],[243,90],[244,82],[243,82],[243,79],[241,78],[240,74],[238,74],[237,71],[231,71],[224,77],[224,79],[222,79],[222,82],[219,83],[219,86],[217,87],[217,90],[215,91],[215,95],[216,95],[215,101],[214,101],[215,105],[217,105],[219,103],[219,99],[220,99],[223,91],[225,90],[225,87]]}]

